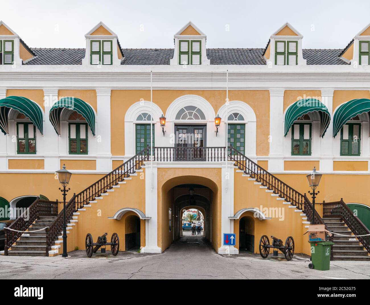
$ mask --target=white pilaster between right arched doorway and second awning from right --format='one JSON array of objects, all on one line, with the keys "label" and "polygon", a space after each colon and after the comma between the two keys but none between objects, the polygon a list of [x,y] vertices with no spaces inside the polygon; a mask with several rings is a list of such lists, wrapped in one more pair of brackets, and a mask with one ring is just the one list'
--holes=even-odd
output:
[{"label": "white pilaster between right arched doorway and second awning from right", "polygon": [[270,142],[269,171],[284,170],[284,89],[270,90]]}]

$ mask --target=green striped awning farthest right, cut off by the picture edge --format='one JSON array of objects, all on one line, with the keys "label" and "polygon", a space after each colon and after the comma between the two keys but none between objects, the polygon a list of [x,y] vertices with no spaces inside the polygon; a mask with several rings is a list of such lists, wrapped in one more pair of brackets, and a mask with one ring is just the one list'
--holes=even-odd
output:
[{"label": "green striped awning farthest right, cut off by the picture edge", "polygon": [[370,111],[370,100],[368,98],[356,98],[340,105],[333,116],[333,137],[337,135],[344,124],[357,114]]}]

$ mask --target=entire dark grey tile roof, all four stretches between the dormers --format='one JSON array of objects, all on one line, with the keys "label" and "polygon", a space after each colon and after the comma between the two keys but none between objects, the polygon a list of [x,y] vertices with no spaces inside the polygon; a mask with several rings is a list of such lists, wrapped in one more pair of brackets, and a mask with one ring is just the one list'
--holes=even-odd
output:
[{"label": "entire dark grey tile roof, all four stretches between the dormers", "polygon": [[[31,48],[36,58],[26,65],[80,65],[85,49]],[[211,65],[265,65],[263,48],[207,49]],[[122,49],[122,65],[169,65],[174,49]],[[338,56],[341,49],[303,49],[307,65],[346,65]]]}]

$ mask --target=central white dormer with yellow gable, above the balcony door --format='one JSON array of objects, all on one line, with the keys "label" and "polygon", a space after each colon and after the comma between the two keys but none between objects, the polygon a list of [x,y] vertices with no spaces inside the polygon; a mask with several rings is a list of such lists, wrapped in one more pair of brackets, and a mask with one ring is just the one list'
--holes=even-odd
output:
[{"label": "central white dormer with yellow gable, above the balcony door", "polygon": [[171,65],[209,65],[206,54],[207,36],[189,21],[174,36],[174,58]]}]

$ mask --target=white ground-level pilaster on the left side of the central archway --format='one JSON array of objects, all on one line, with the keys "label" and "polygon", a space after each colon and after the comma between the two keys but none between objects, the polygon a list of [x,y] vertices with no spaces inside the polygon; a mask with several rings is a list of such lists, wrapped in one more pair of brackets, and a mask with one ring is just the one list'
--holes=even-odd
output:
[{"label": "white ground-level pilaster on the left side of the central archway", "polygon": [[[145,247],[141,249],[141,252],[161,253],[162,249],[158,247],[157,162],[153,162],[152,168],[150,162],[147,162],[144,174],[145,215],[151,217],[151,219],[145,221]],[[153,185],[151,185],[151,175],[153,177]]]}]

